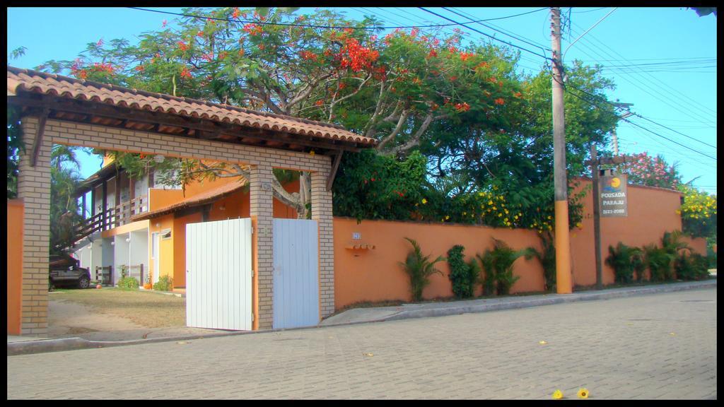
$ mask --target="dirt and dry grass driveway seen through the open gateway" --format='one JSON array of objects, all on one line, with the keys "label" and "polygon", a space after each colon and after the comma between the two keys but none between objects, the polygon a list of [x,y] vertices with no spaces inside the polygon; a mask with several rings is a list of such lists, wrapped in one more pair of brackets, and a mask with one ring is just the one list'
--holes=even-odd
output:
[{"label": "dirt and dry grass driveway seen through the open gateway", "polygon": [[219,334],[185,326],[185,298],[161,293],[54,290],[49,293],[48,337],[121,341]]}]

